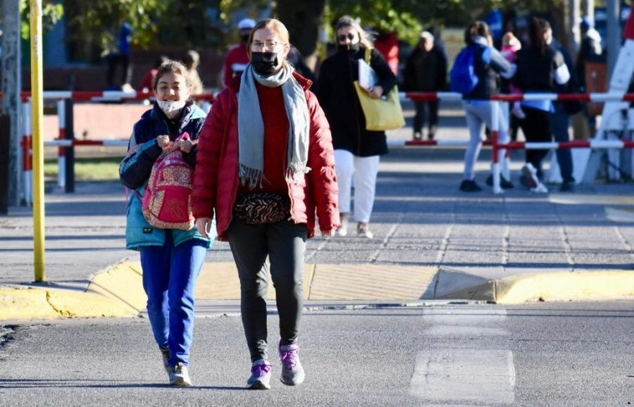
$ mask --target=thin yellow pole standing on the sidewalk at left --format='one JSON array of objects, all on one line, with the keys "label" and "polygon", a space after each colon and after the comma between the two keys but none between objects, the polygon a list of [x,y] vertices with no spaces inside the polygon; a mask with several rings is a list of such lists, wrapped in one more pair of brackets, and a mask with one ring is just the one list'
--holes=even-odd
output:
[{"label": "thin yellow pole standing on the sidewalk at left", "polygon": [[44,86],[42,84],[42,0],[31,0],[31,108],[33,119],[33,247],[35,281],[46,281],[44,268]]}]

